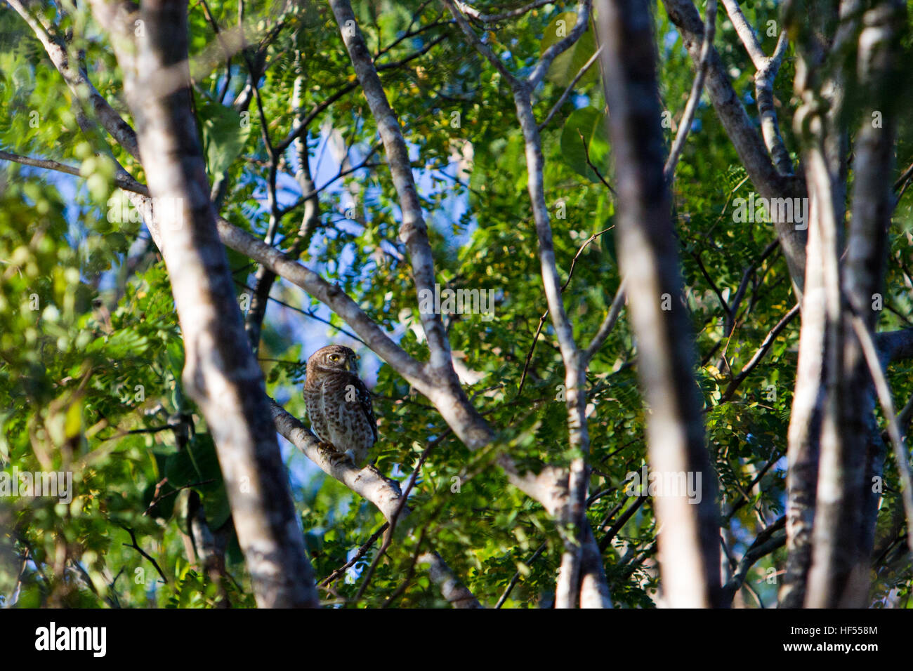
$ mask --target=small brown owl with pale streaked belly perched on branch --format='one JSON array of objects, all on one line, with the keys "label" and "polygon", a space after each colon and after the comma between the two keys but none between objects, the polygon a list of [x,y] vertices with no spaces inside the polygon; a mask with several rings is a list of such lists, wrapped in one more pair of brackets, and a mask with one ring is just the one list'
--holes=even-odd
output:
[{"label": "small brown owl with pale streaked belly perched on branch", "polygon": [[333,461],[348,458],[361,466],[377,442],[371,393],[358,377],[358,356],[348,347],[328,345],[308,359],[304,402],[310,428]]}]

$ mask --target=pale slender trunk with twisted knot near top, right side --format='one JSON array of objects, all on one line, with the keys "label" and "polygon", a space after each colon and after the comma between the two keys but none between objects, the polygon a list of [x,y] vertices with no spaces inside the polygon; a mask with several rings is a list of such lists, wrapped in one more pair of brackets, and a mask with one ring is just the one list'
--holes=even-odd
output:
[{"label": "pale slender trunk with twisted knot near top, right side", "polygon": [[[840,151],[843,135],[834,126],[843,101],[841,84],[821,73],[828,47],[825,39],[833,39],[827,37],[834,32],[836,5],[832,9],[834,16],[821,12],[813,16],[813,25],[802,23],[796,44],[799,58],[794,88],[803,104],[792,125],[803,142],[809,213],[799,362],[788,433],[787,560],[780,590],[782,608],[802,607],[805,602],[817,517],[825,514],[833,518],[848,503],[835,493],[840,488],[834,483],[840,476],[837,464],[845,446],[836,428],[835,404],[840,363],[835,352],[842,336],[835,259],[838,223],[844,213],[845,161]],[[803,18],[794,16],[792,20],[801,22]],[[825,449],[828,456],[823,462]],[[829,485],[819,489],[825,474]],[[822,500],[826,512],[818,508]]]}]

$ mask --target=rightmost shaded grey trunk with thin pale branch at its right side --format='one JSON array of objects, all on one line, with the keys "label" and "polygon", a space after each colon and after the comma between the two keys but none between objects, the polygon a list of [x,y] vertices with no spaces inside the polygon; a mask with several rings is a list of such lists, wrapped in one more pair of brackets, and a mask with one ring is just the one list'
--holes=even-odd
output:
[{"label": "rightmost shaded grey trunk with thin pale branch at its right side", "polygon": [[[854,15],[857,3],[841,7],[841,14]],[[868,561],[875,534],[878,496],[872,478],[881,475],[884,446],[874,422],[874,391],[871,372],[876,372],[886,404],[889,429],[895,446],[899,435],[893,423],[890,396],[870,333],[875,330],[878,312],[873,300],[883,290],[887,230],[893,209],[889,175],[894,167],[896,105],[890,87],[897,74],[897,26],[902,25],[904,5],[877,3],[862,16],[858,32],[856,77],[866,91],[859,131],[855,136],[853,209],[846,243],[842,286],[846,300],[842,326],[844,340],[839,380],[840,435],[845,441],[835,473],[828,472],[823,445],[822,482],[819,508],[824,495],[834,485],[835,498],[845,501],[833,517],[824,510],[815,519],[815,549],[806,603],[812,606],[864,606],[868,588]],[[858,21],[858,19],[856,19]],[[854,22],[855,23],[855,22]],[[841,41],[856,39],[838,33]],[[873,123],[872,112],[884,115],[881,127]],[[874,366],[874,367],[873,367]],[[899,449],[899,448],[897,448]],[[908,472],[908,456],[901,454],[901,473]],[[829,476],[824,480],[825,476]],[[904,487],[905,491],[908,487]],[[905,504],[909,503],[905,497]],[[821,524],[820,528],[818,527]],[[855,524],[855,528],[849,525]],[[820,534],[821,542],[818,542]]]}]

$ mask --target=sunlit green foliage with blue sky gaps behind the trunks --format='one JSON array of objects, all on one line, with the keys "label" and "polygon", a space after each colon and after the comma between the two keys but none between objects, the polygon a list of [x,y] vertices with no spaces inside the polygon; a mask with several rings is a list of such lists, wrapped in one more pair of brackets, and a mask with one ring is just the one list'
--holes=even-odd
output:
[{"label": "sunlit green foliage with blue sky gaps behind the trunks", "polygon": [[[265,71],[257,79],[261,115],[257,101],[248,110],[230,107],[247,80],[253,48],[231,58],[227,81],[221,56],[211,66],[201,65],[209,62],[202,58],[205,53],[220,53],[204,5],[189,8],[191,55],[201,57],[194,61],[194,107],[211,181],[226,172],[221,214],[257,236],[267,235],[270,174],[263,134],[273,144],[287,136],[296,119],[291,103],[296,78],[302,77],[302,109],[320,110],[304,135],[320,187],[320,222],[302,259],[396,334],[406,351],[424,358],[411,270],[397,237],[394,186],[389,171],[378,164],[383,149],[372,152],[377,129],[360,89],[351,87],[351,63],[329,7],[306,3],[275,16],[275,3],[245,4],[252,34],[271,40],[263,51]],[[477,6],[487,11],[500,5]],[[89,79],[125,113],[121,75],[99,27],[81,5],[62,2],[58,8],[60,32],[70,31],[69,47],[84,51]],[[554,39],[556,21],[572,9],[545,5],[524,20],[495,26],[486,39],[511,70],[527,72]],[[424,398],[362,348],[366,372],[376,367],[374,406],[383,436],[373,457],[384,473],[404,481],[429,442],[438,439],[411,500],[416,528],[435,539],[436,550],[482,603],[496,603],[518,573],[504,605],[547,605],[561,540],[540,506],[511,488],[493,464],[501,449],[510,449],[520,462],[525,457],[529,463],[566,465],[573,457],[560,400],[561,357],[548,320],[534,341],[546,304],[514,105],[498,73],[467,46],[437,3],[376,0],[356,3],[355,10],[369,47],[380,54],[378,65],[386,66],[383,84],[413,150],[438,281],[442,288],[495,291],[493,320],[453,314],[446,326],[453,351],[477,373],[467,394],[503,438],[498,446],[471,454],[447,434]],[[208,11],[219,26],[236,26],[236,0],[215,0]],[[778,18],[768,0],[757,0],[746,12],[757,26]],[[665,14],[657,11],[654,18],[660,93],[666,110],[678,119],[692,69]],[[750,100],[753,69],[722,18],[721,57],[736,89]],[[555,62],[537,90],[538,120],[545,119],[593,55],[593,34],[586,36]],[[767,53],[773,44],[771,37],[763,38]],[[411,58],[426,47],[427,53]],[[784,107],[794,109],[792,74],[788,56],[775,92]],[[339,95],[346,87],[351,89]],[[0,8],[0,145],[9,152],[81,163],[86,178],[13,163],[0,174],[0,467],[7,474],[71,471],[74,478],[68,504],[0,497],[0,602],[209,607],[227,600],[252,606],[212,440],[182,392],[184,352],[163,262],[138,221],[110,221],[109,201],[117,192],[105,157],[116,157],[139,179],[142,170],[110,138],[80,131],[75,102],[26,24],[8,7]],[[613,180],[604,107],[594,67],[542,131],[555,255],[562,281],[568,280],[564,302],[574,336],[583,342],[599,327],[619,285],[613,194],[600,179]],[[788,127],[782,123],[787,147],[795,150]],[[667,130],[671,142],[675,129]],[[901,129],[898,163],[904,165],[909,131]],[[282,249],[296,240],[303,212],[293,179],[299,159],[292,154],[292,149],[286,152],[278,176],[280,204],[287,212],[273,240]],[[708,446],[721,483],[723,538],[732,556],[740,556],[764,526],[782,515],[798,341],[795,320],[737,393],[723,398],[731,376],[793,304],[785,264],[774,253],[752,274],[735,329],[725,329],[717,291],[730,299],[745,269],[774,239],[765,222],[733,223],[733,199],[748,197],[750,190],[712,108],[701,103],[677,169],[677,243],[696,333]],[[908,324],[908,207],[898,210],[901,226],[892,233],[883,329]],[[257,267],[235,253],[229,258],[243,308]],[[345,325],[337,316],[297,288],[280,280],[272,296],[277,301],[270,303],[258,356],[268,393],[303,418],[303,362],[325,341],[352,344],[352,339],[341,332]],[[587,514],[597,540],[619,518],[620,507],[634,503],[625,493],[626,479],[645,463],[649,411],[637,389],[635,366],[636,343],[622,319],[596,354],[587,380],[590,491],[598,494]],[[890,371],[898,399],[913,392],[911,379],[908,363]],[[323,578],[346,563],[383,518],[370,503],[309,467],[303,456],[289,455],[289,471],[310,558]],[[889,459],[889,505],[878,522],[885,534],[897,525],[891,512],[899,508],[894,473]],[[209,529],[225,540],[222,578],[187,555],[196,506],[205,510]],[[142,553],[132,547],[131,532]],[[614,603],[655,603],[655,549],[648,499],[603,555]],[[352,599],[376,551],[377,545],[321,596],[333,603]],[[410,542],[394,542],[362,605],[388,599],[397,606],[445,603],[425,572],[410,571],[415,551]],[[778,550],[755,565],[748,580],[755,597],[742,591],[740,603],[775,600],[775,571],[782,560]],[[891,591],[908,595],[910,578],[903,565],[886,563],[873,575],[873,603]],[[406,576],[411,580],[400,590]]]}]

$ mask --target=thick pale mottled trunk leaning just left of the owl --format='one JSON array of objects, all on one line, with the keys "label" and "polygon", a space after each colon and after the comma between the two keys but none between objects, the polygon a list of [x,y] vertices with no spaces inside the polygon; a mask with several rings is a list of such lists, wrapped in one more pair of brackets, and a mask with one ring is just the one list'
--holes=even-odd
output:
[{"label": "thick pale mottled trunk leaning just left of the owl", "polygon": [[313,607],[313,571],[209,201],[190,110],[184,10],[173,0],[144,4],[135,56],[124,56],[122,35],[114,39],[150,192],[174,207],[171,216],[157,214],[184,338],[184,389],[213,435],[257,604]]}]

